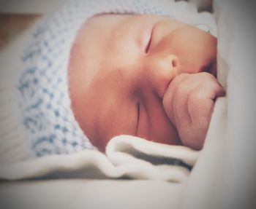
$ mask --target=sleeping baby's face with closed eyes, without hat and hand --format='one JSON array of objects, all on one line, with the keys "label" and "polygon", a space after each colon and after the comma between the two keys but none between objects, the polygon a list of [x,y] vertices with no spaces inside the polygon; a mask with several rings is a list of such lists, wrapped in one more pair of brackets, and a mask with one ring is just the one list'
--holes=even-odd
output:
[{"label": "sleeping baby's face with closed eyes, without hat and hand", "polygon": [[72,110],[104,151],[115,135],[181,144],[162,105],[182,73],[216,74],[217,39],[158,15],[98,15],[80,29],[69,60]]}]

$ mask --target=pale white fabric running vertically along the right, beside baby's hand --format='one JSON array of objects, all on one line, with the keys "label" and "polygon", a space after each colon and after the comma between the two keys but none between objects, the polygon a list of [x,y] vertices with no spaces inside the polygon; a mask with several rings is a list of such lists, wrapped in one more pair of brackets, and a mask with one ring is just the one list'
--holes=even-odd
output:
[{"label": "pale white fabric running vertically along the right, beside baby's hand", "polygon": [[214,1],[218,79],[227,95],[189,178],[181,208],[256,207],[254,9],[252,1]]}]

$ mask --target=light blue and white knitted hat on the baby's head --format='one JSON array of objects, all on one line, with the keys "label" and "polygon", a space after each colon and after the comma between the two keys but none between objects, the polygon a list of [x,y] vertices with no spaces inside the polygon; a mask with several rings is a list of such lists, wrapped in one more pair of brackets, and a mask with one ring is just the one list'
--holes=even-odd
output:
[{"label": "light blue and white knitted hat on the baby's head", "polygon": [[168,15],[143,0],[71,0],[42,20],[23,53],[17,84],[20,122],[34,156],[96,149],[70,108],[67,70],[79,28],[100,13]]}]

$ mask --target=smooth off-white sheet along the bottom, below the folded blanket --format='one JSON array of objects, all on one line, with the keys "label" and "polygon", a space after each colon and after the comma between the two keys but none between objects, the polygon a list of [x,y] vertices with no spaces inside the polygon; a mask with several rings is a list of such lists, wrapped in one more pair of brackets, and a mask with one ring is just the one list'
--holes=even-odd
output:
[{"label": "smooth off-white sheet along the bottom, below the folded blanket", "polygon": [[0,205],[5,209],[178,208],[183,186],[165,181],[88,179],[4,182]]}]

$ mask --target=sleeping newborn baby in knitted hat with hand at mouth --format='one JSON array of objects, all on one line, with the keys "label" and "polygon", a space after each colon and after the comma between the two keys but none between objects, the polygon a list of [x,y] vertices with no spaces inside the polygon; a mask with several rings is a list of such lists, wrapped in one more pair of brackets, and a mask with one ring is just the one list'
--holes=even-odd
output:
[{"label": "sleeping newborn baby in knitted hat with hand at mouth", "polygon": [[34,31],[18,79],[36,156],[104,152],[116,135],[202,149],[217,39],[147,1],[68,1]]}]

